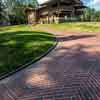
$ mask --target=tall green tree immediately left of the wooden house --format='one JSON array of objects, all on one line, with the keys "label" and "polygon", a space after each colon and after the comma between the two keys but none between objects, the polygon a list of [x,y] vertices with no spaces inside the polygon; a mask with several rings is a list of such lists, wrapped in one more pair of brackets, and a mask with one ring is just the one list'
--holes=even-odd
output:
[{"label": "tall green tree immediately left of the wooden house", "polygon": [[5,0],[7,13],[11,24],[25,24],[27,18],[24,13],[26,7],[37,7],[36,0]]}]

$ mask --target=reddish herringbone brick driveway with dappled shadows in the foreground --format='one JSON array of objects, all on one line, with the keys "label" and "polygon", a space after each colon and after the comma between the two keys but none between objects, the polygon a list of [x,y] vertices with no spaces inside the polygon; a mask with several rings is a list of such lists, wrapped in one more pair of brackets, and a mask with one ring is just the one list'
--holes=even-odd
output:
[{"label": "reddish herringbone brick driveway with dappled shadows in the foreground", "polygon": [[55,50],[2,80],[0,100],[100,100],[100,34],[54,33]]}]

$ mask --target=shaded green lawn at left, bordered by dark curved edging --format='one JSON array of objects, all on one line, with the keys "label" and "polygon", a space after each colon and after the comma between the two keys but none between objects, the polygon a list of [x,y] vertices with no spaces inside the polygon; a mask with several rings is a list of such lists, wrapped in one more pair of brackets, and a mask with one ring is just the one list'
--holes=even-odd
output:
[{"label": "shaded green lawn at left, bordered by dark curved edging", "polygon": [[0,27],[0,76],[39,58],[54,43],[53,35],[32,26]]}]

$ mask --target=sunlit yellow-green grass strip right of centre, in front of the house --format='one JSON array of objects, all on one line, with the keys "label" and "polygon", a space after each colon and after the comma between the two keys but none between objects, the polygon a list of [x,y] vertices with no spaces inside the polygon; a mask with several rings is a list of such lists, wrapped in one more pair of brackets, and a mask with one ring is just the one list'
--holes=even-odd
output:
[{"label": "sunlit yellow-green grass strip right of centre, in front of the house", "polygon": [[36,28],[43,29],[56,29],[63,31],[78,31],[78,32],[100,32],[100,22],[73,22],[73,23],[62,23],[62,24],[44,24],[37,25]]}]

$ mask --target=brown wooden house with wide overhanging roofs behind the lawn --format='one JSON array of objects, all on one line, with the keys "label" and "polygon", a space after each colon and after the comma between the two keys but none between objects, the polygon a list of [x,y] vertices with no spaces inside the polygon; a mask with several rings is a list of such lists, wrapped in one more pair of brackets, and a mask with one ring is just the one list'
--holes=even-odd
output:
[{"label": "brown wooden house with wide overhanging roofs behind the lawn", "polygon": [[79,16],[85,6],[80,0],[49,0],[36,9],[27,9],[29,23],[60,23]]}]

